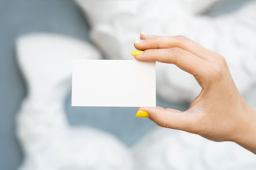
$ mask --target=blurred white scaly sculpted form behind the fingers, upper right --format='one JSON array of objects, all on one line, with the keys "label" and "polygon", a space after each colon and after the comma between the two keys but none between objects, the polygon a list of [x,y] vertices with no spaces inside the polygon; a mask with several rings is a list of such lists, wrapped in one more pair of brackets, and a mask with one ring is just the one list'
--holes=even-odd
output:
[{"label": "blurred white scaly sculpted form behind the fingers, upper right", "polygon": [[[108,59],[130,60],[132,40],[139,32],[153,35],[185,35],[220,53],[228,63],[238,90],[252,106],[256,77],[256,1],[215,18],[195,15],[216,1],[205,0],[76,0],[89,20],[92,41]],[[157,64],[157,93],[172,102],[191,102],[200,87],[193,76],[176,66]]]}]

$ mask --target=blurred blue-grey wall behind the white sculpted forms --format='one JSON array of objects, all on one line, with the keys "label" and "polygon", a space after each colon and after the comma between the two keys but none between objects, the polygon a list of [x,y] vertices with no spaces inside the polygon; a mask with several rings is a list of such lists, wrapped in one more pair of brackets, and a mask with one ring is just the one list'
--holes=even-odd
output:
[{"label": "blurred blue-grey wall behind the white sculpted forms", "polygon": [[[238,2],[238,3],[236,3]],[[218,3],[209,15],[229,12],[241,0]],[[19,72],[15,39],[31,32],[51,32],[89,41],[88,25],[72,0],[0,0],[0,170],[16,170],[22,152],[15,135],[15,116],[26,95]],[[135,117],[137,108],[71,107],[66,100],[67,117],[72,126],[89,125],[111,132],[128,146],[156,125]],[[157,105],[185,110],[188,104],[169,104],[157,99]]]}]

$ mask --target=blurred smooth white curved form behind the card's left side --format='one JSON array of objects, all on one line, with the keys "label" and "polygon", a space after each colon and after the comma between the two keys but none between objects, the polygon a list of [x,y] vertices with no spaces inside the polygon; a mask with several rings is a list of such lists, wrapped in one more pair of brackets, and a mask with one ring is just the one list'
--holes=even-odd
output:
[{"label": "blurred smooth white curved form behind the card's left side", "polygon": [[55,34],[17,40],[28,96],[17,117],[25,159],[20,170],[131,170],[130,150],[113,135],[70,127],[64,110],[71,90],[72,59],[99,59],[86,42]]}]

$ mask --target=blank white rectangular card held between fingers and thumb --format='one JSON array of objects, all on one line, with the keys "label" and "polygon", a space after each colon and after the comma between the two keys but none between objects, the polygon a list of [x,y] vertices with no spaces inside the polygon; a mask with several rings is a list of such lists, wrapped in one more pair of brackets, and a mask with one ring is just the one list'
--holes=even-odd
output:
[{"label": "blank white rectangular card held between fingers and thumb", "polygon": [[73,60],[72,106],[156,106],[155,62]]}]

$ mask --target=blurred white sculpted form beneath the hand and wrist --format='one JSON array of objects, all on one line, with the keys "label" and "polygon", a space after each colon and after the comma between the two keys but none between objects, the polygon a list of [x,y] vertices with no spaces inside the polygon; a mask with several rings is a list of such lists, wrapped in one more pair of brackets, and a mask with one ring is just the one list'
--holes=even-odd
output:
[{"label": "blurred white sculpted form beneath the hand and wrist", "polygon": [[256,156],[229,141],[157,128],[133,148],[135,170],[255,170]]}]

